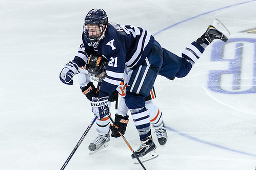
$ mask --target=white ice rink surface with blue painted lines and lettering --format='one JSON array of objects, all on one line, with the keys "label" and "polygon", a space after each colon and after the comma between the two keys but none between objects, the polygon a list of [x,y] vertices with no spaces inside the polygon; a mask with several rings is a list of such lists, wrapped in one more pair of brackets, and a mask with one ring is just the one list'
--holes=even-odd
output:
[{"label": "white ice rink surface with blue painted lines and lettering", "polygon": [[[185,78],[159,76],[154,103],[164,114],[168,142],[147,169],[249,170],[256,165],[256,22],[254,1],[1,1],[0,169],[60,169],[93,115],[77,78],[59,80],[81,43],[84,16],[103,8],[111,22],[147,29],[181,55],[214,18],[229,29],[228,44],[211,44]],[[249,30],[249,31],[248,31]],[[219,51],[217,50],[219,49]],[[89,155],[92,127],[66,169],[142,169],[122,138]],[[132,120],[126,139],[139,136]]]}]

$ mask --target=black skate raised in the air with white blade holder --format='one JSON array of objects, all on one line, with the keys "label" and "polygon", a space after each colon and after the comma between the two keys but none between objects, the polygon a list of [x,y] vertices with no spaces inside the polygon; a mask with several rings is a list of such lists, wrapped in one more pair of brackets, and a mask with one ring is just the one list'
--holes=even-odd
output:
[{"label": "black skate raised in the air with white blade holder", "polygon": [[[210,44],[214,40],[222,40],[224,42],[227,42],[228,38],[230,36],[230,33],[228,29],[221,23],[220,20],[214,19],[212,25],[208,26],[206,32],[196,40],[199,44]],[[207,42],[205,42],[205,40]]]}]

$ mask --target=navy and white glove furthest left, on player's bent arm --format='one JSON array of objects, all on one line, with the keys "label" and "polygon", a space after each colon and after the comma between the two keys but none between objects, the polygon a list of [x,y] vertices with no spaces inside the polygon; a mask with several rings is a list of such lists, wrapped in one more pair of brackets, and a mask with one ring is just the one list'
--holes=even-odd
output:
[{"label": "navy and white glove furthest left, on player's bent arm", "polygon": [[65,83],[72,85],[73,84],[73,76],[77,74],[78,66],[70,61],[69,63],[65,64],[64,68],[60,73],[60,80]]}]

